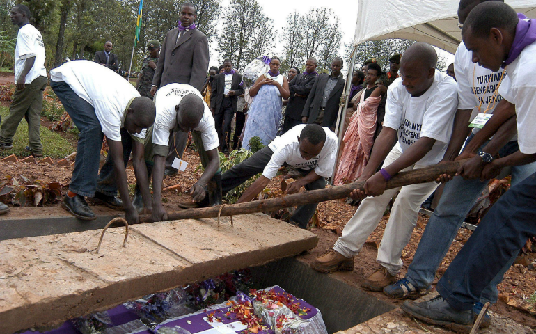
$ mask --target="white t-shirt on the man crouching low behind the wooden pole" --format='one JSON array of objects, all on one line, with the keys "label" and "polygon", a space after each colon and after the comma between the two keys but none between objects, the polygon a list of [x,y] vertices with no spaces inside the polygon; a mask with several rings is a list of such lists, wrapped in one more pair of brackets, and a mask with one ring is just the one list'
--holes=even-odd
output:
[{"label": "white t-shirt on the man crouching low behind the wooden pole", "polygon": [[317,175],[329,177],[333,173],[333,164],[337,157],[338,140],[329,127],[322,127],[326,132],[326,142],[320,151],[320,154],[313,159],[306,160],[301,157],[299,152],[298,136],[306,124],[296,125],[288,130],[283,136],[276,137],[269,143],[268,147],[274,152],[270,161],[262,171],[262,175],[268,179],[276,176],[277,171],[286,162],[289,166],[305,170],[314,169]]}]

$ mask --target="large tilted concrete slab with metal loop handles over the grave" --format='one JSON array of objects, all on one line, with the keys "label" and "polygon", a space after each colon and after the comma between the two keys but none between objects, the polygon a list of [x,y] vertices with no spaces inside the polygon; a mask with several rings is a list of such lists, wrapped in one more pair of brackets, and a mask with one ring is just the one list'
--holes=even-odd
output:
[{"label": "large tilted concrete slab with metal loop handles over the grave", "polygon": [[314,248],[318,238],[263,214],[0,241],[0,333],[61,321],[232,269]]}]

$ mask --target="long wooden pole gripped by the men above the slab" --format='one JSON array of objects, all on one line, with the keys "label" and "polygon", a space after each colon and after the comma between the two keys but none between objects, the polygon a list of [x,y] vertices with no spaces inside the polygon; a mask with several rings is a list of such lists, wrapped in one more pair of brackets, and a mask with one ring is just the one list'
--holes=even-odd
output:
[{"label": "long wooden pole gripped by the men above the slab", "polygon": [[[449,161],[445,164],[428,166],[411,170],[409,172],[397,173],[391,180],[387,182],[386,189],[398,188],[409,184],[419,184],[435,181],[439,175],[449,174],[454,175],[456,170],[466,160]],[[269,198],[267,200],[254,200],[232,205],[216,205],[215,207],[202,207],[198,209],[186,209],[177,212],[168,212],[168,221],[176,221],[180,219],[199,219],[199,218],[216,218],[219,216],[235,216],[237,214],[253,214],[255,212],[268,212],[283,207],[297,207],[326,200],[337,200],[346,198],[354,189],[363,189],[364,182],[354,182],[342,186],[331,186],[326,189],[302,191],[278,198]],[[221,212],[220,212],[221,211]],[[150,214],[140,216],[141,223],[151,221]]]}]

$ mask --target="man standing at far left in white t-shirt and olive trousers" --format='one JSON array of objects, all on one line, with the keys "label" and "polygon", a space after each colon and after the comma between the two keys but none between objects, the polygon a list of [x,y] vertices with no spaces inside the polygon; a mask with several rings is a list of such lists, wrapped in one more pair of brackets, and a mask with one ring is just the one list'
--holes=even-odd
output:
[{"label": "man standing at far left in white t-shirt and olive trousers", "polygon": [[[47,86],[45,43],[41,33],[29,24],[30,10],[24,5],[11,8],[11,22],[19,26],[15,47],[15,93],[9,106],[9,115],[0,127],[0,149],[13,148],[13,136],[22,118],[28,122],[29,150],[34,157],[42,157],[39,134],[41,125],[42,93]],[[1,120],[1,119],[0,119]]]}]

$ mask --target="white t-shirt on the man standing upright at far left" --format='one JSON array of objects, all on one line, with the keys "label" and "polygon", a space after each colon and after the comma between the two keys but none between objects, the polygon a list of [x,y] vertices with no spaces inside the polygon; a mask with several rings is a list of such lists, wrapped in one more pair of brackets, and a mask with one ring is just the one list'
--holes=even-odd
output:
[{"label": "white t-shirt on the man standing upright at far left", "polygon": [[47,77],[45,69],[45,42],[42,40],[41,33],[31,24],[25,24],[19,29],[17,34],[17,45],[15,46],[15,82],[19,79],[26,58],[36,57],[30,72],[26,74],[24,84],[31,84],[37,77]]}]

